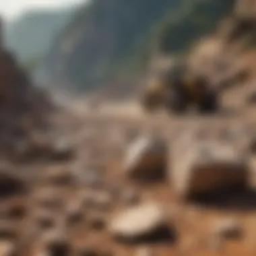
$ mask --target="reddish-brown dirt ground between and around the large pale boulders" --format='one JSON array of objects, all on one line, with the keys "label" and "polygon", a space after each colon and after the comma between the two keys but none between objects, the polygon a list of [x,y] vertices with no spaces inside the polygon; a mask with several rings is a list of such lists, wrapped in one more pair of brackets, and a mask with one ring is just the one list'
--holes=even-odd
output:
[{"label": "reddish-brown dirt ground between and around the large pale boulders", "polygon": [[[253,87],[248,86],[247,90],[251,92]],[[239,126],[248,129],[243,134],[250,132],[255,135],[256,107],[242,107],[244,101],[241,98],[247,93],[243,90],[242,97],[237,90],[224,96],[224,110],[213,117],[193,114],[174,117],[166,113],[149,116],[133,102],[123,106],[102,103],[98,108],[90,108],[84,102],[63,102],[67,110],[55,116],[54,121],[59,134],[74,144],[75,157],[15,165],[15,170],[28,183],[28,192],[1,199],[0,239],[6,241],[4,226],[7,226],[11,232],[8,239],[15,245],[15,255],[19,256],[42,255],[44,234],[51,229],[67,236],[72,246],[69,255],[255,255],[256,193],[253,186],[249,191],[218,195],[212,201],[183,202],[177,199],[167,180],[139,185],[122,174],[123,153],[135,135],[155,133],[172,143],[182,132],[193,129],[201,129],[212,136],[223,127],[236,129]],[[253,155],[251,159],[254,159]],[[68,178],[59,181],[58,177],[66,171]],[[90,175],[96,178],[90,181]],[[253,174],[251,181],[253,184]],[[133,191],[139,201],[156,201],[164,205],[168,222],[176,230],[174,241],[125,245],[110,235],[107,228],[110,220],[117,212],[129,207],[129,200],[123,197],[127,190]],[[84,199],[92,194],[92,201],[95,201],[100,197],[98,193],[108,195],[105,204],[104,200],[103,203],[90,204]],[[44,205],[43,199],[38,199],[40,196],[44,201],[53,200],[53,205]],[[58,200],[62,200],[59,206]],[[68,221],[70,205],[79,205],[82,214],[81,219],[71,224]],[[1,214],[11,212],[15,207],[20,207],[22,213],[14,216]],[[50,228],[34,217],[38,211],[49,212],[53,222]],[[234,240],[216,238],[212,234],[216,223],[230,218],[239,222],[242,236]],[[82,247],[90,251],[79,254]],[[0,255],[9,256],[1,254],[1,246]]]}]

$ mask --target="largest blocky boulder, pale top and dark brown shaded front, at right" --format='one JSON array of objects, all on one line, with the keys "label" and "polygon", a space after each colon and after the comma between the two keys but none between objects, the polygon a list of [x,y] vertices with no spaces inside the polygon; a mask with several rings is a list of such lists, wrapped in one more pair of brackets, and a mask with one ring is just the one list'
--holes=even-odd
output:
[{"label": "largest blocky boulder, pale top and dark brown shaded front, at right", "polygon": [[232,144],[207,140],[185,145],[174,148],[170,159],[170,183],[179,195],[193,197],[246,187],[247,158]]}]

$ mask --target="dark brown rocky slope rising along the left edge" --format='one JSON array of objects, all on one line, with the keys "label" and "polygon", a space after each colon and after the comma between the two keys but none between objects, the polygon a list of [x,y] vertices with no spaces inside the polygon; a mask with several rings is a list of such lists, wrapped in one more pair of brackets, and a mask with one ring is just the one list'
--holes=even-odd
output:
[{"label": "dark brown rocky slope rising along the left edge", "polygon": [[[3,24],[0,22],[0,27]],[[1,33],[1,31],[0,31]],[[3,34],[0,39],[4,40]],[[0,151],[13,154],[17,143],[46,123],[46,115],[53,107],[49,97],[30,82],[26,71],[15,55],[0,42]]]}]

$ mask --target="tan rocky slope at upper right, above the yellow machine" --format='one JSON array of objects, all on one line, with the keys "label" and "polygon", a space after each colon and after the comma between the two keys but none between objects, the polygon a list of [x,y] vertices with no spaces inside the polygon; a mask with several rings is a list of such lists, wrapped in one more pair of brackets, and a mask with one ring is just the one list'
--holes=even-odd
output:
[{"label": "tan rocky slope at upper right, above the yellow machine", "polygon": [[236,1],[230,16],[220,22],[216,31],[191,49],[191,67],[220,90],[255,77],[255,51],[248,50],[250,42],[255,45],[255,10],[255,1]]}]

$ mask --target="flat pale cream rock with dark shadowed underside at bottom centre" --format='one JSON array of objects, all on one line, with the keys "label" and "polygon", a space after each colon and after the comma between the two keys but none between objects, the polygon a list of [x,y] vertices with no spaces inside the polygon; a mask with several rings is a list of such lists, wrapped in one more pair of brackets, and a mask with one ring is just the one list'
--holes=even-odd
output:
[{"label": "flat pale cream rock with dark shadowed underside at bottom centre", "polygon": [[161,207],[145,203],[115,215],[109,225],[110,234],[123,243],[159,242],[173,238]]}]

